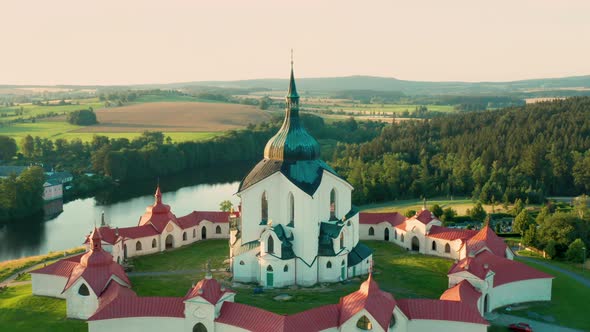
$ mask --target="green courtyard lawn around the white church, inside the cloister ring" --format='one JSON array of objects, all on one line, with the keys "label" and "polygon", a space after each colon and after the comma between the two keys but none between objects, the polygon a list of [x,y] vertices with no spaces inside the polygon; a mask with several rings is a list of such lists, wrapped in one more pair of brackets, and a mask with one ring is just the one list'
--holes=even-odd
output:
[{"label": "green courtyard lawn around the white church, inside the cloister ring", "polygon": [[[420,254],[408,254],[392,243],[367,241],[375,250],[375,280],[380,287],[397,298],[438,298],[447,289],[447,271],[452,261]],[[225,268],[226,240],[208,240],[179,248],[166,254],[154,254],[133,260],[134,271],[180,271],[202,269],[211,259],[214,269]],[[204,273],[173,276],[132,277],[133,289],[142,296],[184,296],[192,284],[204,277]],[[230,274],[216,272],[214,277],[231,287]],[[291,289],[266,290],[254,294],[253,285],[232,287],[236,290],[236,302],[254,305],[279,314],[296,313],[319,305],[338,303],[340,297],[358,290],[365,278],[355,278],[347,284]],[[288,293],[289,301],[278,302],[273,298]]]}]

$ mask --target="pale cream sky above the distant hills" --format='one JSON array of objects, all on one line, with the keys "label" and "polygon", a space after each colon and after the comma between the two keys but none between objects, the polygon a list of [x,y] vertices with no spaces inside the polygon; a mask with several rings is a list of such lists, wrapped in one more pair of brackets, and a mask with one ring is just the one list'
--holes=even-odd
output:
[{"label": "pale cream sky above the distant hills", "polygon": [[590,74],[588,0],[1,0],[0,84]]}]

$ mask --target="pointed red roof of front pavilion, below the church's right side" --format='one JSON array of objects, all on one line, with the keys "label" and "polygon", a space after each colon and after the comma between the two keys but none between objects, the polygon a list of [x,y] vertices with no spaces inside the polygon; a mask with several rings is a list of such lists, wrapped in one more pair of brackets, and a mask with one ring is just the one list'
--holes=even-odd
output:
[{"label": "pointed red roof of front pavilion, below the church's right side", "polygon": [[362,283],[361,288],[340,298],[340,325],[359,311],[367,310],[387,331],[396,302],[393,296],[379,289],[372,275]]}]

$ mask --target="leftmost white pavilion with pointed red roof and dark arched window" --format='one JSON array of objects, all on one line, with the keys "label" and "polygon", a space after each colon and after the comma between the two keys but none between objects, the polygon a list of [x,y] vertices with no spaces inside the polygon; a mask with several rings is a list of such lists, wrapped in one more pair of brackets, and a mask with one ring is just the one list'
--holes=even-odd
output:
[{"label": "leftmost white pavilion with pointed red roof and dark arched window", "polygon": [[123,268],[102,249],[98,229],[90,236],[90,250],[31,272],[33,294],[66,299],[67,316],[87,319],[99,307],[110,283],[131,287]]}]

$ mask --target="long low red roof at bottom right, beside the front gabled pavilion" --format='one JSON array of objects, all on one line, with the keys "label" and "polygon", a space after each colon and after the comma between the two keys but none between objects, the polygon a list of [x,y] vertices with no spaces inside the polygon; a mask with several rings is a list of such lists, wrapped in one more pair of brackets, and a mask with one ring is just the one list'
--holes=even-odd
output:
[{"label": "long low red roof at bottom right, beside the front gabled pavilion", "polygon": [[409,319],[448,320],[490,325],[474,307],[456,301],[431,299],[398,300],[400,310]]}]

